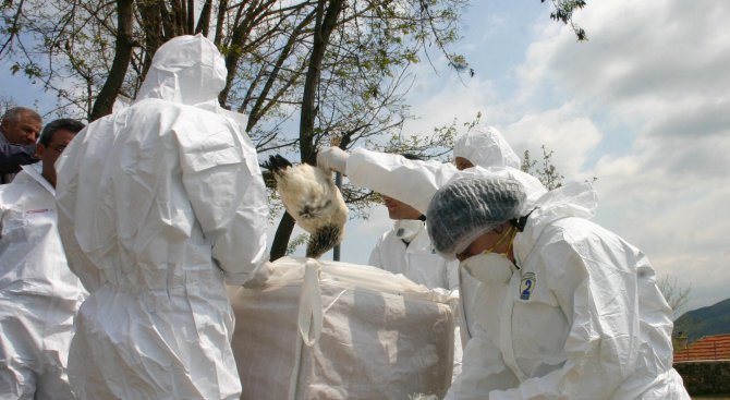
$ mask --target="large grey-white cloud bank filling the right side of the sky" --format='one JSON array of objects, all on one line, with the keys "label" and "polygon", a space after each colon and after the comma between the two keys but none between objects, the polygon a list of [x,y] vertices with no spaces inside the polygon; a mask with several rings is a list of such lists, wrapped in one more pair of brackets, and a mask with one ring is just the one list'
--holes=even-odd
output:
[{"label": "large grey-white cloud bank filling the right side of the sky", "polygon": [[[575,138],[561,121],[585,119],[604,137],[599,146],[621,149],[587,166],[598,177],[598,221],[646,251],[659,275],[690,282],[690,308],[727,298],[721,282],[730,281],[728,17],[730,3],[709,0],[589,3],[576,21],[591,41],[546,25],[519,69],[516,97],[551,110],[515,126],[551,123],[545,141]],[[546,118],[565,109],[571,119]],[[630,143],[611,146],[616,140]],[[574,144],[577,161],[559,167],[589,161],[595,145]]]}]

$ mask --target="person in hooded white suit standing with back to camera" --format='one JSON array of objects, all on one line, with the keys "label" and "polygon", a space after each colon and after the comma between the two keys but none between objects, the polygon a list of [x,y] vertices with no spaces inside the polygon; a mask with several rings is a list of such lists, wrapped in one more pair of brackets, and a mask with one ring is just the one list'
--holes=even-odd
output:
[{"label": "person in hooded white suit standing with back to camera", "polygon": [[69,377],[81,399],[238,399],[224,282],[267,264],[256,151],[222,112],[223,58],[207,38],[162,45],[136,100],[59,160],[59,227],[90,292]]}]

